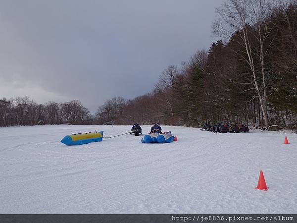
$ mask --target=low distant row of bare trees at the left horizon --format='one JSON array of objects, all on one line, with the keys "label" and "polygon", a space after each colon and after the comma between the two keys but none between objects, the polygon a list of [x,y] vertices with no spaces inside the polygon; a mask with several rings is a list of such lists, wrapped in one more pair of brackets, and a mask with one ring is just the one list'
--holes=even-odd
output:
[{"label": "low distant row of bare trees at the left horizon", "polygon": [[0,100],[0,126],[36,125],[43,119],[45,124],[92,124],[90,111],[82,103],[72,100],[65,103],[37,104],[29,97]]}]

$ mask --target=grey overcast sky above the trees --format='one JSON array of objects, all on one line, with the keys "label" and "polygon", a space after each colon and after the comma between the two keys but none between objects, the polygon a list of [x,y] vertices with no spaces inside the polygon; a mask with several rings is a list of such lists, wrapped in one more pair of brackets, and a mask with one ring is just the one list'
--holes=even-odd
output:
[{"label": "grey overcast sky above the trees", "polygon": [[107,99],[152,90],[168,65],[208,49],[223,0],[1,0],[0,98]]}]

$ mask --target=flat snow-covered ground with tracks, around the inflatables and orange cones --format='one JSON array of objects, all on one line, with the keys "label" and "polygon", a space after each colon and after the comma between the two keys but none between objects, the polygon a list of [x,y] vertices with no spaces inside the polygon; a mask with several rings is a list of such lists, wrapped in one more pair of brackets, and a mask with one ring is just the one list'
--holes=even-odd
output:
[{"label": "flat snow-covered ground with tracks, around the inflatables and orange cones", "polygon": [[[162,127],[178,141],[66,146],[71,133],[131,126],[0,128],[0,213],[297,213],[297,134]],[[268,191],[254,190],[260,170]]]}]

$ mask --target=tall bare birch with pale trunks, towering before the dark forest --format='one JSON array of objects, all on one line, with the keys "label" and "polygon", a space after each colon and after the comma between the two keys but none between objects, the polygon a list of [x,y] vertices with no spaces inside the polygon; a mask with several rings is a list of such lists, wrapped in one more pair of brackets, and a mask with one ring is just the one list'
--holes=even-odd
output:
[{"label": "tall bare birch with pale trunks, towering before the dark forest", "polygon": [[[266,103],[265,56],[271,47],[271,43],[267,43],[271,33],[271,29],[268,30],[270,3],[268,0],[227,0],[217,8],[219,20],[213,26],[217,35],[229,38],[230,41],[238,43],[245,49],[245,52],[236,53],[240,56],[239,59],[247,62],[250,68],[266,127],[269,125],[269,120]],[[256,28],[255,32],[251,31],[250,24]],[[258,47],[253,46],[253,41],[256,41]],[[242,53],[246,56],[242,56]],[[260,70],[257,70],[255,56],[260,60]],[[258,81],[257,73],[262,74],[261,83]]]}]

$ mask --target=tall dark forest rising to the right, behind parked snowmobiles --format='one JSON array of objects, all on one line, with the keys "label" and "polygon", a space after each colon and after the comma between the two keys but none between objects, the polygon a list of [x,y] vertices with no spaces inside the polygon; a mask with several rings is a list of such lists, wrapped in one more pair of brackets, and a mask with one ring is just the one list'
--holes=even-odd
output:
[{"label": "tall dark forest rising to the right, behind parked snowmobiles", "polygon": [[297,2],[227,0],[214,33],[224,41],[168,66],[154,90],[99,108],[99,123],[242,122],[297,125]]}]

